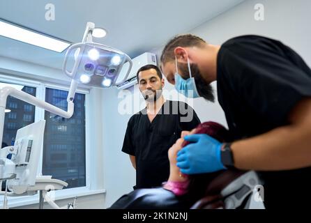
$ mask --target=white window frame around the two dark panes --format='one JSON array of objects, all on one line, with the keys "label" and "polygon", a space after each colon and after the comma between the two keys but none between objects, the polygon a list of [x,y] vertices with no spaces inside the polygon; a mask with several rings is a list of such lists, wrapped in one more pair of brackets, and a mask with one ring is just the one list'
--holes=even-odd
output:
[{"label": "white window frame around the two dark panes", "polygon": [[[43,81],[34,81],[29,80],[24,77],[12,77],[4,75],[2,72],[0,73],[0,82],[6,82],[8,84],[20,84],[23,86],[31,86],[33,88],[36,88],[36,98],[39,98],[40,100],[45,101],[45,89],[58,89],[63,91],[69,91],[70,86],[65,86],[61,84],[53,84],[53,83],[47,83]],[[70,197],[75,196],[85,196],[89,194],[101,194],[105,193],[105,190],[91,190],[93,188],[93,185],[91,185],[91,160],[90,160],[90,98],[89,98],[89,90],[86,89],[79,89],[77,88],[76,93],[82,93],[85,95],[85,168],[86,168],[86,185],[83,187],[73,187],[63,188],[63,190],[56,190],[52,193],[52,196],[54,199],[66,199]],[[40,121],[45,119],[45,109],[42,109],[40,107],[35,106],[35,117],[34,121]],[[40,153],[40,160],[39,160],[39,166],[38,166],[38,172],[37,174],[42,175],[42,167],[43,167],[43,151]],[[39,193],[38,193],[39,194]],[[32,203],[38,203],[39,202],[39,195],[35,194],[32,196],[21,196],[21,197],[8,197],[8,205],[11,207],[15,206],[24,206]],[[3,202],[3,196],[0,197],[0,203]]]}]

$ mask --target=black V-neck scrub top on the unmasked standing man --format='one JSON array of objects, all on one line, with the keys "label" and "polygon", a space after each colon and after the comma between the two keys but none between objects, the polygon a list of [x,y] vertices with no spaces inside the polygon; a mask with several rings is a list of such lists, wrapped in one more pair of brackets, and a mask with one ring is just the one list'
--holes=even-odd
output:
[{"label": "black V-neck scrub top on the unmasked standing man", "polygon": [[167,100],[150,123],[146,109],[134,114],[126,129],[122,151],[136,158],[136,187],[158,187],[169,177],[167,151],[200,121],[184,102]]}]

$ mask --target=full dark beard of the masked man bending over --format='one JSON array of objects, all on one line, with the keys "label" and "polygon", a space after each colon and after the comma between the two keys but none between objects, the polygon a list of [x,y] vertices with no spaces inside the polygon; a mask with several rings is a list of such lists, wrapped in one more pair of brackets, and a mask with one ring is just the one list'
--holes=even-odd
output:
[{"label": "full dark beard of the masked man bending over", "polygon": [[[183,75],[188,75],[190,77],[187,64],[179,63],[178,66]],[[203,78],[197,64],[190,63],[190,69],[192,77],[195,77],[195,86],[197,86],[197,93],[199,93],[199,96],[211,102],[215,102],[213,86],[211,86],[211,84],[208,84]]]}]

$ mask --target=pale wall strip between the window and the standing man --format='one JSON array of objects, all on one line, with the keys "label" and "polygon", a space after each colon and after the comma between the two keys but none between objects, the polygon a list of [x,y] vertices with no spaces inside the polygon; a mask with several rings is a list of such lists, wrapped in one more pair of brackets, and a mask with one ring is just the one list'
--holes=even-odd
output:
[{"label": "pale wall strip between the window and the standing man", "polygon": [[[125,92],[130,95],[128,91]],[[126,96],[120,95],[118,98],[119,91],[114,88],[104,89],[102,93],[105,207],[109,207],[121,195],[130,192],[135,185],[135,169],[129,156],[122,153],[121,148],[128,120],[132,114],[139,111],[139,107],[134,108],[134,103],[131,103],[132,112],[121,115],[118,108]]]}]

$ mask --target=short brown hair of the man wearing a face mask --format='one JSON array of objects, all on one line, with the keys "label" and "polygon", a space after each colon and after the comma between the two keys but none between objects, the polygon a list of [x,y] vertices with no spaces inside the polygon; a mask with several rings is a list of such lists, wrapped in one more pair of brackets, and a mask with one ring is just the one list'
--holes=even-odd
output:
[{"label": "short brown hair of the man wearing a face mask", "polygon": [[167,45],[165,45],[164,49],[162,50],[160,61],[162,64],[165,64],[169,61],[174,60],[174,49],[176,47],[200,47],[204,43],[206,43],[205,40],[191,34],[175,36],[174,38],[172,38],[172,40],[169,40]]}]

